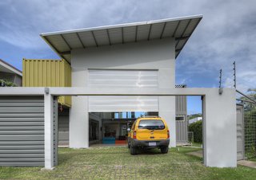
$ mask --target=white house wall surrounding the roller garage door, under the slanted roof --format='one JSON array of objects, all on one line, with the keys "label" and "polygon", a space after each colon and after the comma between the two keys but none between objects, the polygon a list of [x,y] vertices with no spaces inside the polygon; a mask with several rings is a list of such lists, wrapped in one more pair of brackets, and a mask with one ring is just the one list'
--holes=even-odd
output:
[{"label": "white house wall surrounding the roller garage door, under the slanted roof", "polygon": [[[174,88],[175,84],[174,38],[141,41],[124,45],[106,45],[71,51],[72,86],[88,87],[90,68],[99,69],[157,69],[158,88]],[[175,100],[168,98],[170,111],[159,108],[170,131],[175,130]],[[161,102],[161,100],[159,100]],[[88,100],[78,96],[72,98],[70,109],[70,147],[88,147]],[[78,109],[76,109],[78,108]],[[172,109],[174,108],[174,110]],[[165,113],[163,113],[165,112]],[[161,114],[160,114],[161,115]],[[74,142],[73,142],[74,141]],[[173,146],[174,142],[171,143]]]}]

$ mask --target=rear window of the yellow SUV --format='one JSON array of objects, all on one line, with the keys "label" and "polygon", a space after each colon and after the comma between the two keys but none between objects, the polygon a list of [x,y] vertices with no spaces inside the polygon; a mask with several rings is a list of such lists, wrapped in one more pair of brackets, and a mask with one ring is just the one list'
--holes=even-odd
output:
[{"label": "rear window of the yellow SUV", "polygon": [[138,123],[139,129],[149,129],[149,130],[161,130],[165,128],[165,124],[162,120],[155,120],[155,119],[145,119],[140,120]]}]

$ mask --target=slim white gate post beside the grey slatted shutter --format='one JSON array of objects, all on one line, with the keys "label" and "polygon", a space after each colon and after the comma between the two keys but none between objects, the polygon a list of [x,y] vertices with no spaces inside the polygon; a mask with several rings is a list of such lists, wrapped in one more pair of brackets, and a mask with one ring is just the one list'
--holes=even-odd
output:
[{"label": "slim white gate post beside the grey slatted shutter", "polygon": [[50,94],[45,99],[45,168],[54,167],[54,98]]}]

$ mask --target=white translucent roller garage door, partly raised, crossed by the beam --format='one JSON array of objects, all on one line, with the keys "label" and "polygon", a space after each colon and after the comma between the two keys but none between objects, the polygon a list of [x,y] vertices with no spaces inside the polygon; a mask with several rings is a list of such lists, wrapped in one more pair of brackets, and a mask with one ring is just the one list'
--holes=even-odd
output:
[{"label": "white translucent roller garage door, partly raised, crossed by the beam", "polygon": [[[89,70],[90,87],[157,88],[157,70]],[[158,96],[90,96],[89,112],[158,112]]]}]

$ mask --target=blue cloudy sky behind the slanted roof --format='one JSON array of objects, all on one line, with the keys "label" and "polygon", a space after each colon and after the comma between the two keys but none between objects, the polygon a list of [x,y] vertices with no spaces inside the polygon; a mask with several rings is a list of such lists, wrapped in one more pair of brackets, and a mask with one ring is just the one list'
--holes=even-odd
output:
[{"label": "blue cloudy sky behind the slanted roof", "polygon": [[[202,14],[176,60],[176,83],[188,87],[232,87],[237,62],[238,89],[256,88],[256,1],[0,1],[0,58],[22,69],[22,58],[59,58],[39,37],[50,31],[141,22]],[[199,104],[199,105],[197,105]],[[189,113],[200,112],[199,97],[189,97]]]}]

